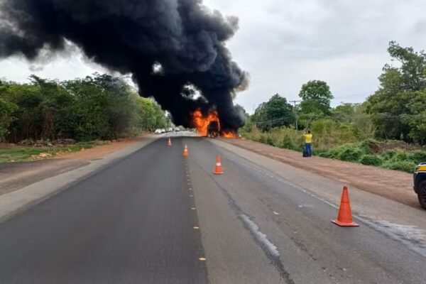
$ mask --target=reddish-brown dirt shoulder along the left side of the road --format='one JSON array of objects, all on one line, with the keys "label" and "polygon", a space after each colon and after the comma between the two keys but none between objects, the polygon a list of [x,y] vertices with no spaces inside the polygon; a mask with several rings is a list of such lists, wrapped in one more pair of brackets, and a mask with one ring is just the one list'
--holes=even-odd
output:
[{"label": "reddish-brown dirt shoulder along the left side of the road", "polygon": [[93,160],[102,159],[106,155],[132,146],[146,138],[148,138],[148,135],[138,138],[126,138],[102,146],[84,149],[80,152],[58,154],[55,158],[48,160],[0,163],[0,195],[31,185],[33,182],[89,165]]}]

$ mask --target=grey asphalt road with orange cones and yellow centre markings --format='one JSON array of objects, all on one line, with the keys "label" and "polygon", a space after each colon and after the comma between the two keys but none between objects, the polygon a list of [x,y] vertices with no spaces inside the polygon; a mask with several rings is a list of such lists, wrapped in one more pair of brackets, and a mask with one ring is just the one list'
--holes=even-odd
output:
[{"label": "grey asphalt road with orange cones and yellow centre markings", "polygon": [[208,139],[165,142],[0,224],[0,283],[425,282],[420,246],[332,224],[329,203]]}]

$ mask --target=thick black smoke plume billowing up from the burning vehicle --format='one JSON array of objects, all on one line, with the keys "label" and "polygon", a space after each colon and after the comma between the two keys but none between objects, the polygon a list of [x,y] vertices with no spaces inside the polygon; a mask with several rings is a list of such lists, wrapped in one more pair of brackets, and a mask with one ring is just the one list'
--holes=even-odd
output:
[{"label": "thick black smoke plume billowing up from the burning vehicle", "polygon": [[237,26],[202,0],[0,0],[0,58],[33,60],[70,40],[94,62],[131,73],[175,124],[191,126],[195,109],[217,109],[222,127],[235,130],[245,118],[232,97],[247,75],[224,43]]}]

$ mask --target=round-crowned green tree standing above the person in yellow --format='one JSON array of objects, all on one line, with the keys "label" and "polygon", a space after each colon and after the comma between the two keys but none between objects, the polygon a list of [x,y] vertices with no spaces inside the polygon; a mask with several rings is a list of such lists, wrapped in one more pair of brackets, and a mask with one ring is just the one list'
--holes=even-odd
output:
[{"label": "round-crowned green tree standing above the person in yellow", "polygon": [[330,115],[330,101],[333,99],[330,87],[324,81],[311,80],[302,85],[299,97],[300,112],[302,114],[315,114],[317,116]]}]

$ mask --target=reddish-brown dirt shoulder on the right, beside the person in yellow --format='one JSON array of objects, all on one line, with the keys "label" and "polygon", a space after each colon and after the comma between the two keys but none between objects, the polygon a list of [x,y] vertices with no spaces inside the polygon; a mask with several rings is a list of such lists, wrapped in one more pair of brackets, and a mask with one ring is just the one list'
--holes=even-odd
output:
[{"label": "reddish-brown dirt shoulder on the right, beside the person in yellow", "polygon": [[419,207],[417,195],[413,191],[413,175],[408,173],[328,158],[302,158],[302,153],[246,139],[221,138],[221,140],[390,200]]}]

